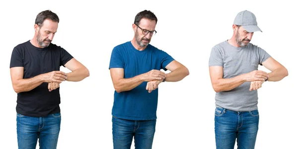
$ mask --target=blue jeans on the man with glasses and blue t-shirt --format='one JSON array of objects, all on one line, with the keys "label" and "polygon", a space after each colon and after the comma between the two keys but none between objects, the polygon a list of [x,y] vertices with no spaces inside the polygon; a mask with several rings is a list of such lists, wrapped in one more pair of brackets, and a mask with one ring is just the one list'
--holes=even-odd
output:
[{"label": "blue jeans on the man with glasses and blue t-shirt", "polygon": [[135,137],[135,149],[151,149],[155,133],[155,120],[133,121],[113,116],[114,149],[131,149]]}]

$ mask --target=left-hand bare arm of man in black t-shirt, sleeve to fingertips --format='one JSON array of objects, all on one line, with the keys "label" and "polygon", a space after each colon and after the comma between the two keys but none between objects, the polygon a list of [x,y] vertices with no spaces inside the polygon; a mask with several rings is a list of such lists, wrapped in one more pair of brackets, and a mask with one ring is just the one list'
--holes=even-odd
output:
[{"label": "left-hand bare arm of man in black t-shirt, sleeve to fingertips", "polygon": [[40,74],[32,78],[23,78],[24,68],[10,68],[10,76],[13,90],[16,93],[30,91],[39,86],[43,82],[58,82],[61,83],[66,79],[66,74],[60,71],[54,71],[46,74]]}]

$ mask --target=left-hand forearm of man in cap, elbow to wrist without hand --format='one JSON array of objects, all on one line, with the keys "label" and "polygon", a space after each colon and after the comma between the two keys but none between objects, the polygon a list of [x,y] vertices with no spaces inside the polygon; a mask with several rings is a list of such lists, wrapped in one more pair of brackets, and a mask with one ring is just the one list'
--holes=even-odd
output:
[{"label": "left-hand forearm of man in cap, elbow to wrist without hand", "polygon": [[245,82],[243,74],[233,78],[220,78],[214,82],[213,88],[216,92],[232,90]]}]

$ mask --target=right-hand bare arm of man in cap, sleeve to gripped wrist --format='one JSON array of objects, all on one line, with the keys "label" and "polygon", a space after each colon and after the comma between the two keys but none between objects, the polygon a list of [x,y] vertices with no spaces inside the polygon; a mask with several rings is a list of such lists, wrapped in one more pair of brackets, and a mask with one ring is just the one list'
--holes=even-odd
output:
[{"label": "right-hand bare arm of man in cap, sleeve to gripped wrist", "polygon": [[271,71],[268,73],[268,81],[279,81],[288,76],[288,70],[272,57],[263,62],[262,65]]}]

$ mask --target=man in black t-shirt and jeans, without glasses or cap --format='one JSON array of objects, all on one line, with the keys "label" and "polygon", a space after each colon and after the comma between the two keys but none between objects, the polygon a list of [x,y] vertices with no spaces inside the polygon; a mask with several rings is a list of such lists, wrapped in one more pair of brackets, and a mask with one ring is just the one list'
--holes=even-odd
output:
[{"label": "man in black t-shirt and jeans, without glasses or cap", "polygon": [[[11,55],[10,75],[17,93],[17,140],[19,149],[56,149],[60,132],[61,82],[80,81],[89,71],[65,49],[52,44],[59,17],[50,10],[35,20],[33,39],[17,45]],[[71,73],[60,71],[60,66]]]}]

